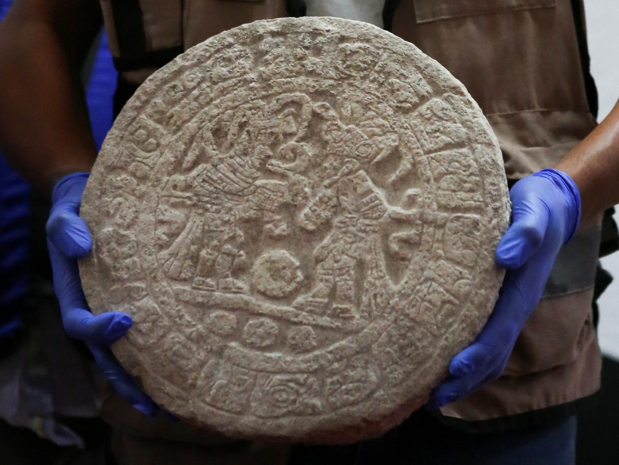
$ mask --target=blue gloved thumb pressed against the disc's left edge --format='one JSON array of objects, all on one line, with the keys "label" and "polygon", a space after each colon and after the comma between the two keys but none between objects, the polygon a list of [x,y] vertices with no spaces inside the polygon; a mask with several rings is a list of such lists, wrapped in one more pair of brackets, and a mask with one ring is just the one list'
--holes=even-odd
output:
[{"label": "blue gloved thumb pressed against the disc's left edge", "polygon": [[84,220],[77,215],[79,205],[63,203],[52,209],[46,224],[47,236],[58,250],[71,258],[85,257],[92,249],[92,239]]}]

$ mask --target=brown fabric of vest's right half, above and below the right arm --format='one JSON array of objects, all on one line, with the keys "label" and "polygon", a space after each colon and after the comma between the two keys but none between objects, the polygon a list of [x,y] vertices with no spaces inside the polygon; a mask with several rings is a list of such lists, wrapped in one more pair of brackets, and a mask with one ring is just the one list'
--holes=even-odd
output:
[{"label": "brown fabric of vest's right half, above and below the right arm", "polygon": [[[396,35],[443,64],[477,100],[511,179],[554,166],[595,127],[575,31],[569,0],[400,0],[393,25]],[[599,218],[580,230],[598,226]],[[544,299],[504,376],[443,414],[484,420],[597,391],[592,293]]]}]

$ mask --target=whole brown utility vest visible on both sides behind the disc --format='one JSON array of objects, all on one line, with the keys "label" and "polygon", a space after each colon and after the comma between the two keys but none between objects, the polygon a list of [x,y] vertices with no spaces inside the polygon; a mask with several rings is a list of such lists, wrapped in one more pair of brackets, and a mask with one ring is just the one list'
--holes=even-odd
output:
[{"label": "whole brown utility vest visible on both sides behind the disc", "polygon": [[[288,14],[285,0],[101,3],[112,55],[124,77],[135,83],[214,34]],[[510,179],[555,165],[595,126],[587,104],[576,34],[582,26],[575,24],[574,4],[391,2],[392,32],[438,60],[477,100],[498,136]],[[444,407],[443,415],[488,420],[565,404],[598,391],[601,358],[591,303],[599,241],[600,218],[581,225],[561,251],[503,376]]]}]

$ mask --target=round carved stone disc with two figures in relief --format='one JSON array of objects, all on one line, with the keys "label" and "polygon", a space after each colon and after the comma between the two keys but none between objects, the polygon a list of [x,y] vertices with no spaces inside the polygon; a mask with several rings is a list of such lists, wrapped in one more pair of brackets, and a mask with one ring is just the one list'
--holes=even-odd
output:
[{"label": "round carved stone disc with two figures in relief", "polygon": [[153,74],[84,192],[95,313],[155,402],[248,438],[379,435],[482,329],[508,190],[442,66],[370,24],[258,21]]}]

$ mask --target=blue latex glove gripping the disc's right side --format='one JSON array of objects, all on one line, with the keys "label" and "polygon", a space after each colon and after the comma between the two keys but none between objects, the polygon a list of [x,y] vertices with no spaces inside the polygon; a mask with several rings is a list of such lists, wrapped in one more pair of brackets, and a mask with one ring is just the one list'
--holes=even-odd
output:
[{"label": "blue latex glove gripping the disc's right side", "polygon": [[441,407],[498,378],[543,288],[559,249],[578,229],[581,200],[564,172],[545,169],[519,180],[509,191],[512,220],[496,248],[507,269],[490,319],[472,345],[449,364],[449,378],[430,404]]}]

